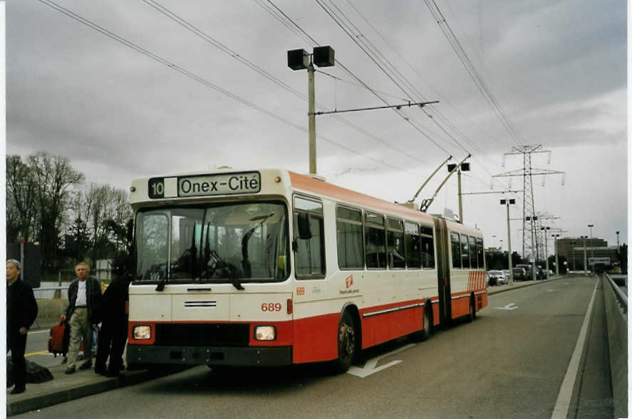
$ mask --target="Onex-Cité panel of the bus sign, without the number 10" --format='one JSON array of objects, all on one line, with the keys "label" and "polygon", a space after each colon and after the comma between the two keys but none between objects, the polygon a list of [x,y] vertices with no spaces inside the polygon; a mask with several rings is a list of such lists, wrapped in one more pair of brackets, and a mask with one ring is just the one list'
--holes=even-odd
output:
[{"label": "Onex-Cit\u00e9 panel of the bus sign, without the number 10", "polygon": [[231,195],[261,191],[258,171],[185,176],[177,179],[178,196]]}]

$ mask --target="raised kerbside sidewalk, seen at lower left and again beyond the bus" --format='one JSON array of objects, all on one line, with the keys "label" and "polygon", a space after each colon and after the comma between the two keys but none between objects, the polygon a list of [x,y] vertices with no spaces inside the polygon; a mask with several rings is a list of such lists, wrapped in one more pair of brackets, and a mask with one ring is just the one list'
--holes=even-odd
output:
[{"label": "raised kerbside sidewalk, seen at lower left and again beyond the bus", "polygon": [[[543,281],[522,281],[514,282],[514,285],[497,285],[487,288],[487,294],[493,295],[499,292],[517,290],[522,287],[542,284],[551,280],[558,280],[560,277],[551,277]],[[66,365],[56,365],[48,368],[53,374],[53,380],[46,383],[26,384],[26,392],[16,395],[10,394],[10,389],[6,391],[6,415],[19,415],[31,410],[46,408],[58,403],[73,401],[78,398],[92,396],[125,386],[133,386],[153,378],[165,376],[173,373],[173,370],[165,371],[120,371],[118,378],[108,378],[95,374],[93,369],[77,371],[73,374],[66,374]]]}]

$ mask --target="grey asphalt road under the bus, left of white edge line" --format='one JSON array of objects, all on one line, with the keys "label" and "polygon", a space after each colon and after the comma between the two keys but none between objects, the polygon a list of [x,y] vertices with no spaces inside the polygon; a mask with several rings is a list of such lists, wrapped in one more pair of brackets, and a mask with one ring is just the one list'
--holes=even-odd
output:
[{"label": "grey asphalt road under the bus, left of white edge line", "polygon": [[[364,368],[342,375],[320,364],[224,372],[200,366],[21,416],[551,418],[595,284],[574,277],[492,295],[471,324],[437,330],[422,343],[400,339],[372,349]],[[577,405],[571,415],[581,417]]]}]

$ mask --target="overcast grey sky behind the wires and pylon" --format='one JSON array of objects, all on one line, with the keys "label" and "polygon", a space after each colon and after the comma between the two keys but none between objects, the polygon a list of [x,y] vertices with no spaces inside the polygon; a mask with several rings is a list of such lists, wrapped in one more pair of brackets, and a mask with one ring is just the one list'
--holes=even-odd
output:
[{"label": "overcast grey sky behind the wires and pylon", "polygon": [[[608,245],[620,230],[627,243],[626,2],[428,3],[445,23],[418,0],[9,1],[6,153],[66,156],[87,182],[122,189],[220,166],[307,173],[308,75],[286,53],[331,46],[317,110],[439,102],[318,115],[327,181],[403,202],[448,156],[471,154],[464,193],[522,190],[521,177],[492,176],[522,169],[522,154],[505,153],[541,145],[550,153],[532,154],[532,167],[564,172],[533,177],[544,225]],[[522,193],[462,199],[464,223],[504,249],[507,197],[522,218]],[[428,212],[446,209],[458,213],[456,176]],[[511,233],[522,251],[521,221]]]}]

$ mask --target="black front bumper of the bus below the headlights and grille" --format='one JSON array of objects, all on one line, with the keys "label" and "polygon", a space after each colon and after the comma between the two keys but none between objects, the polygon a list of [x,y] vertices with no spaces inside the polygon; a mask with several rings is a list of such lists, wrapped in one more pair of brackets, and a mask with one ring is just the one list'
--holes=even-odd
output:
[{"label": "black front bumper of the bus below the headlights and grille", "polygon": [[128,365],[284,366],[292,363],[291,346],[217,347],[130,345]]}]

